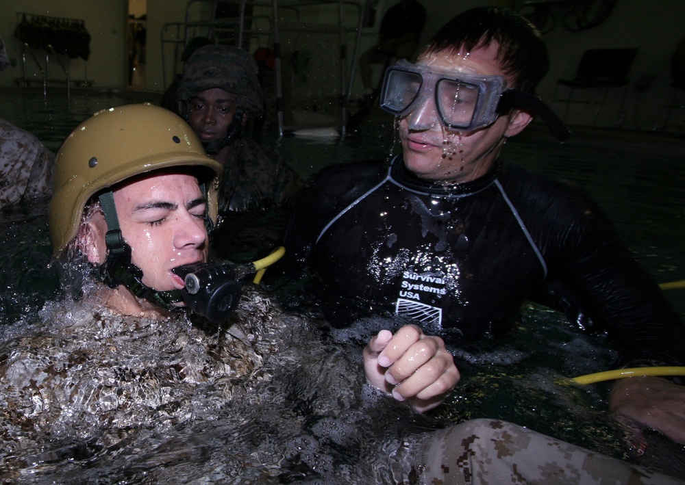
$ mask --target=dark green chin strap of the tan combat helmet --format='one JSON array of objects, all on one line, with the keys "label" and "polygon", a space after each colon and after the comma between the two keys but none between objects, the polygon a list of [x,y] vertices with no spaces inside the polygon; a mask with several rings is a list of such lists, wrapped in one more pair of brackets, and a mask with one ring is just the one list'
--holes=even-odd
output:
[{"label": "dark green chin strap of the tan combat helmet", "polygon": [[142,283],[142,270],[131,262],[131,246],[125,243],[121,235],[112,192],[102,194],[99,199],[108,228],[105,235],[107,259],[99,267],[103,282],[110,288],[124,285],[138,298],[145,298],[164,309],[179,310],[174,303],[183,301],[180,290],[157,291]]}]

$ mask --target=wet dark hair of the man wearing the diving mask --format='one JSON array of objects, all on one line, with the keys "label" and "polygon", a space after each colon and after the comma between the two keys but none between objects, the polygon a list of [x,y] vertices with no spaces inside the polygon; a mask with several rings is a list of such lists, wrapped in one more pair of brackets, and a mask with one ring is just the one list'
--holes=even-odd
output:
[{"label": "wet dark hair of the man wearing the diving mask", "polygon": [[499,44],[497,60],[514,79],[514,88],[533,92],[549,68],[547,46],[540,32],[523,15],[508,8],[479,7],[466,10],[443,26],[429,40],[422,55],[473,51]]}]

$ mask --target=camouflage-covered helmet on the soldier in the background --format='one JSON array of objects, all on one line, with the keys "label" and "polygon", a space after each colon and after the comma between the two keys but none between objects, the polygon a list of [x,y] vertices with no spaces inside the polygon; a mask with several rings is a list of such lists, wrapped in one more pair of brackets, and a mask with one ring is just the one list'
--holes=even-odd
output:
[{"label": "camouflage-covered helmet on the soldier in the background", "polygon": [[260,118],[264,114],[256,62],[240,47],[207,45],[190,55],[176,93],[177,99],[187,101],[211,88],[236,94],[251,118]]}]

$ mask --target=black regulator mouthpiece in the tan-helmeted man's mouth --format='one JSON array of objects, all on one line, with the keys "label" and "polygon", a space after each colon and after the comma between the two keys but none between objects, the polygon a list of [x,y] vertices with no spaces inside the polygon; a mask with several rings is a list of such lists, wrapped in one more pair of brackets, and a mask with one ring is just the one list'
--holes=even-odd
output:
[{"label": "black regulator mouthpiece in the tan-helmeted man's mouth", "polygon": [[183,301],[211,322],[223,322],[240,301],[241,285],[234,265],[195,263],[172,271],[186,283],[181,290]]}]

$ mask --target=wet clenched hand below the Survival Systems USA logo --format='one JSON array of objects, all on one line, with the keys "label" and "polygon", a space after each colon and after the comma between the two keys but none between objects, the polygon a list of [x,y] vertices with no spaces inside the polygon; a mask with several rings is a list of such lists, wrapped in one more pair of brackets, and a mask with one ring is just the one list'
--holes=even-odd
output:
[{"label": "wet clenched hand below the Survival Systems USA logo", "polygon": [[395,335],[381,330],[364,348],[364,372],[369,383],[419,412],[442,403],[459,382],[452,354],[440,337],[407,325]]}]

